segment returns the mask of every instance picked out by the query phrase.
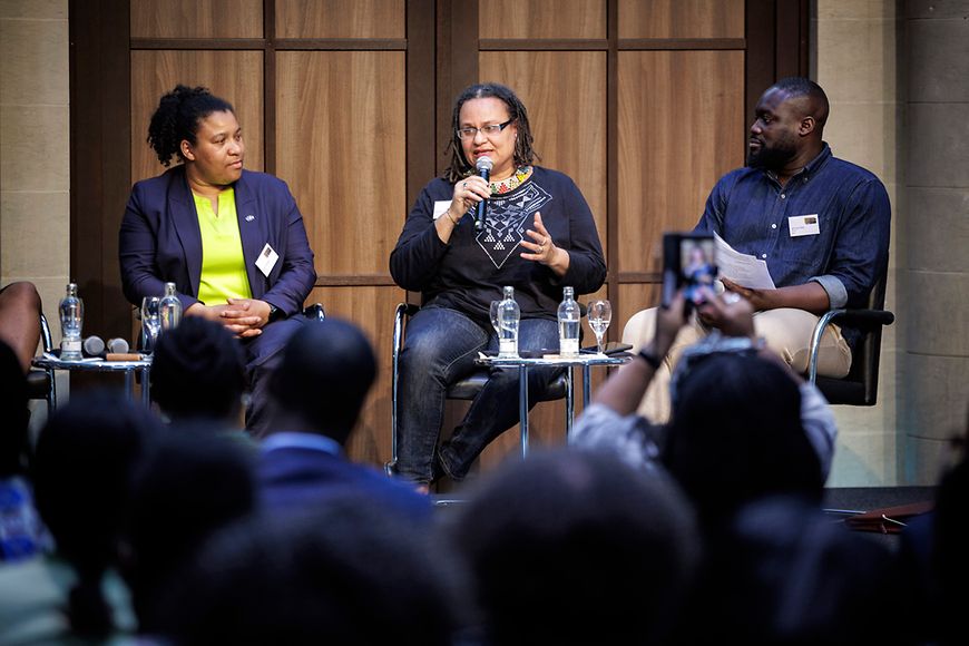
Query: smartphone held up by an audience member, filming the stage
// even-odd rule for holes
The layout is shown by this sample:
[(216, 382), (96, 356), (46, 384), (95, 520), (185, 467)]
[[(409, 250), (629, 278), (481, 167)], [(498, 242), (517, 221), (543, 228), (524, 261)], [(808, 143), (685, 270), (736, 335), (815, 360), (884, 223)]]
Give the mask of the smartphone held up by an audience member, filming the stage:
[(696, 233), (663, 234), (663, 306), (668, 307), (681, 288), (687, 310), (702, 305), (701, 287), (713, 290), (717, 276), (713, 236)]

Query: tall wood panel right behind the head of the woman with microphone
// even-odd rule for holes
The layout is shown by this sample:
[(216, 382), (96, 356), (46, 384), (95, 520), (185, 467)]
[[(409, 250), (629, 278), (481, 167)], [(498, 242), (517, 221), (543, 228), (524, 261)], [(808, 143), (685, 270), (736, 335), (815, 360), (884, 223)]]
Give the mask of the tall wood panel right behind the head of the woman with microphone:
[[(480, 78), (509, 86), (521, 98), (538, 163), (572, 178), (596, 218), (606, 249), (606, 53), (488, 51)], [(608, 260), (608, 258), (607, 258)]]

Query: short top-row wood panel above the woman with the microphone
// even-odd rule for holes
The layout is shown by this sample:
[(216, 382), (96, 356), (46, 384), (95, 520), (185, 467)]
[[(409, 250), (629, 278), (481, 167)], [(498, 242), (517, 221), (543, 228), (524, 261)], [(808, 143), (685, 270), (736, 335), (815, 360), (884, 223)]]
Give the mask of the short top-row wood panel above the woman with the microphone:
[(478, 38), (606, 38), (605, 0), (488, 0)]

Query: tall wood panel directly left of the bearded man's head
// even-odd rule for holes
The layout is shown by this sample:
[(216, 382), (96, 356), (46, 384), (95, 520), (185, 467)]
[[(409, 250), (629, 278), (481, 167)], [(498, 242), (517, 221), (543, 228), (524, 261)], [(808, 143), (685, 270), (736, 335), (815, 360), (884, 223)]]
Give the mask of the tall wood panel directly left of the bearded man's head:
[(619, 52), (619, 271), (659, 271), (663, 232), (693, 228), (743, 164), (743, 63), (741, 51)]

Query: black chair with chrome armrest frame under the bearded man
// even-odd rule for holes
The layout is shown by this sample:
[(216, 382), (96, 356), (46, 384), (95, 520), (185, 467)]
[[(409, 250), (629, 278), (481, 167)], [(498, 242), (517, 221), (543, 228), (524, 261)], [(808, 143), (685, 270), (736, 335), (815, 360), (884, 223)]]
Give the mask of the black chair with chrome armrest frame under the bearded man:
[[(818, 386), (829, 403), (857, 407), (871, 407), (877, 403), (881, 331), (884, 325), (891, 325), (895, 320), (894, 314), (884, 310), (884, 284), (882, 276), (872, 287), (868, 309), (831, 310), (821, 316), (814, 327), (809, 346), (807, 379)], [(851, 370), (842, 379), (818, 375), (821, 336), (832, 323), (861, 332), (851, 352)]]

